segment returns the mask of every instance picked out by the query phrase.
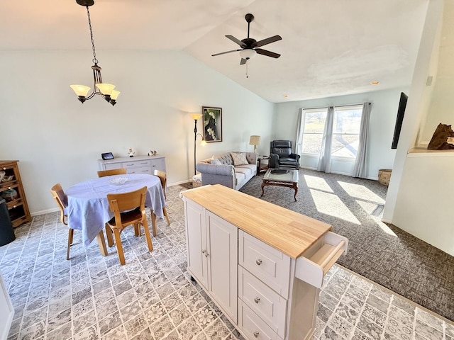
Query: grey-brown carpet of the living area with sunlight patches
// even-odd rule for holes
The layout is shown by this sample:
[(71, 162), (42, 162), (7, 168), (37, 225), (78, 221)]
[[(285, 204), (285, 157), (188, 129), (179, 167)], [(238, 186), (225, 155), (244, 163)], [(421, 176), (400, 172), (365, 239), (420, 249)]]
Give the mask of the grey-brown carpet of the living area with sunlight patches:
[[(262, 177), (240, 191), (260, 198)], [(261, 199), (332, 225), (349, 239), (341, 266), (454, 321), (454, 257), (381, 222), (386, 193), (378, 181), (300, 169), (297, 202), (278, 186)]]

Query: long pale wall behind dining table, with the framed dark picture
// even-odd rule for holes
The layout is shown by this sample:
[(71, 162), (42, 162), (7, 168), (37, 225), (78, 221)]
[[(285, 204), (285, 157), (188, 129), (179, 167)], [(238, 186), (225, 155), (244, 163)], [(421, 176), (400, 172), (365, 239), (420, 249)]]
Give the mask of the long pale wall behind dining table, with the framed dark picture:
[[(185, 52), (97, 51), (118, 103), (77, 101), (70, 84), (92, 84), (89, 51), (0, 54), (0, 159), (18, 159), (32, 213), (55, 208), (49, 189), (96, 176), (101, 152), (165, 155), (168, 183), (192, 178), (194, 120), (201, 106), (223, 108), (223, 142), (197, 147), (197, 159), (252, 151), (250, 135), (269, 138), (274, 104)], [(201, 132), (201, 120), (198, 122)], [(199, 141), (199, 139), (198, 139)], [(259, 147), (260, 151), (260, 147)]]

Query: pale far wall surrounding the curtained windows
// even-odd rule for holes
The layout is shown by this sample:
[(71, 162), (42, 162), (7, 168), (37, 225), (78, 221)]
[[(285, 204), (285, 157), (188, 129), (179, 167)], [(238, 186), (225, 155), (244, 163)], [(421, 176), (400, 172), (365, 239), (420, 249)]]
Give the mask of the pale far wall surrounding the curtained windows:
[[(379, 169), (392, 169), (395, 150), (391, 149), (392, 135), (396, 123), (400, 93), (408, 94), (409, 89), (392, 89), (372, 91), (365, 94), (320, 98), (310, 101), (294, 101), (276, 104), (273, 139), (295, 140), (299, 108), (322, 108), (326, 106), (343, 106), (360, 104), (366, 101), (373, 103), (370, 115), (369, 146), (367, 149), (367, 179), (377, 179)], [(301, 164), (313, 167), (315, 159), (301, 159)], [(333, 163), (332, 171), (348, 172), (352, 164), (344, 161)]]

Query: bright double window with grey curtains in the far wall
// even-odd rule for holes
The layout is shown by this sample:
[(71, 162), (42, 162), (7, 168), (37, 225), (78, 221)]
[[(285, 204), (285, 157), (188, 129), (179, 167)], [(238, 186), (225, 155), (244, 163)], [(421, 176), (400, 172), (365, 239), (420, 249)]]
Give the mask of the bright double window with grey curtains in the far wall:
[[(328, 108), (304, 110), (302, 154), (319, 156)], [(355, 159), (358, 152), (362, 105), (334, 108), (331, 156)]]

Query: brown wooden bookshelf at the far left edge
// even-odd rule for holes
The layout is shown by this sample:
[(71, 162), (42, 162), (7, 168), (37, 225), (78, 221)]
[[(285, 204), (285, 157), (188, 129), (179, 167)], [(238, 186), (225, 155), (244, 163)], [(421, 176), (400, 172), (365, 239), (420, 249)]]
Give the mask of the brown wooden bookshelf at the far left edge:
[(0, 161), (2, 180), (0, 181), (0, 198), (6, 200), (9, 217), (13, 227), (31, 221), (25, 191), (23, 191), (19, 161)]

